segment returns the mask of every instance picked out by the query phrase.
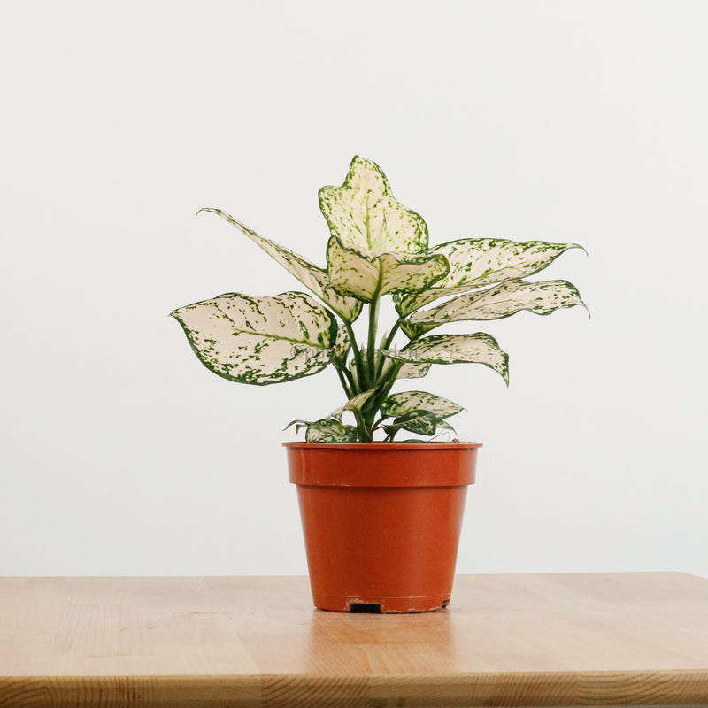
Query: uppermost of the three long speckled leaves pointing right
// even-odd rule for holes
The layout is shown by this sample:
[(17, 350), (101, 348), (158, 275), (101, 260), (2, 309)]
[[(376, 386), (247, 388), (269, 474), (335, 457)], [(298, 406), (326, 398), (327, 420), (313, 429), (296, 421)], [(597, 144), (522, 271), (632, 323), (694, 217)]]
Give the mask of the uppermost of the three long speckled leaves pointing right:
[(440, 297), (458, 295), (497, 282), (526, 278), (539, 273), (577, 243), (509, 241), (500, 238), (463, 238), (443, 243), (428, 253), (447, 258), (450, 270), (424, 293), (395, 296), (396, 309), (409, 314)]

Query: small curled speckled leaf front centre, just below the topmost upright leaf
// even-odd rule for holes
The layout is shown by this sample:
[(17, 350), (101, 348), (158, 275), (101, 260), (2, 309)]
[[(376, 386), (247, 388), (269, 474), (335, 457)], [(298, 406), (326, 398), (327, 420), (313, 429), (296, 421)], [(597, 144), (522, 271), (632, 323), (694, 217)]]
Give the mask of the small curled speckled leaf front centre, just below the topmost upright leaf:
[(443, 256), (362, 255), (332, 236), (327, 243), (327, 274), (342, 296), (371, 302), (375, 296), (428, 288), (447, 273)]

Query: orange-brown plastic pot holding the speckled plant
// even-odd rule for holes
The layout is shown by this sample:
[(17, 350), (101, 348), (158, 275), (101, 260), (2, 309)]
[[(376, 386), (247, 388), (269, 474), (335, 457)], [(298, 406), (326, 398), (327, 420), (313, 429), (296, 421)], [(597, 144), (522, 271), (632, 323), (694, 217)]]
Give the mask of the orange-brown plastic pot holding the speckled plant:
[(283, 443), (312, 599), (337, 612), (450, 604), (481, 443)]

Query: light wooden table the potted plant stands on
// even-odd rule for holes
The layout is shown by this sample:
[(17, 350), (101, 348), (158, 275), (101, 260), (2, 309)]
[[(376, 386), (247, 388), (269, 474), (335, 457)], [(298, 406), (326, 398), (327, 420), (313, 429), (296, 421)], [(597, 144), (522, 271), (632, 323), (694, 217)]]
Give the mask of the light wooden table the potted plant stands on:
[(0, 706), (708, 704), (708, 580), (470, 575), (447, 610), (304, 578), (0, 579)]

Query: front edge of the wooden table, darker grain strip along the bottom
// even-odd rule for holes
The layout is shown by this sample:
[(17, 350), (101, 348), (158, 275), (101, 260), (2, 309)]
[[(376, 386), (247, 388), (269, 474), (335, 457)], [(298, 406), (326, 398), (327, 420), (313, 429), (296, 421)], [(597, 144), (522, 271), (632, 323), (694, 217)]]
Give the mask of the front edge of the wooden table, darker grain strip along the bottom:
[[(418, 674), (0, 676), (0, 704), (82, 706), (327, 706), (381, 701), (446, 706), (708, 705), (708, 667), (697, 670)], [(373, 702), (373, 703), (372, 703)], [(386, 703), (388, 704), (388, 703)]]

